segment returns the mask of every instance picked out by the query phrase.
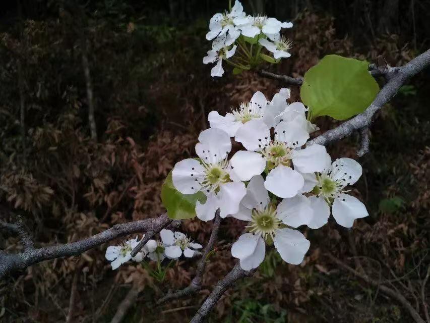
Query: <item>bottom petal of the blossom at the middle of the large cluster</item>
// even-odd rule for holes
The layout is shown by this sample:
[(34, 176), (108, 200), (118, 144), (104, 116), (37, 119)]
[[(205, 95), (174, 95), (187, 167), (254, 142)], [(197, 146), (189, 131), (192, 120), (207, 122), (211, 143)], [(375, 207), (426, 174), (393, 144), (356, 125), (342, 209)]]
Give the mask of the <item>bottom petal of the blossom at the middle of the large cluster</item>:
[(304, 179), (298, 172), (279, 165), (266, 177), (264, 186), (278, 197), (293, 197), (303, 187)]

